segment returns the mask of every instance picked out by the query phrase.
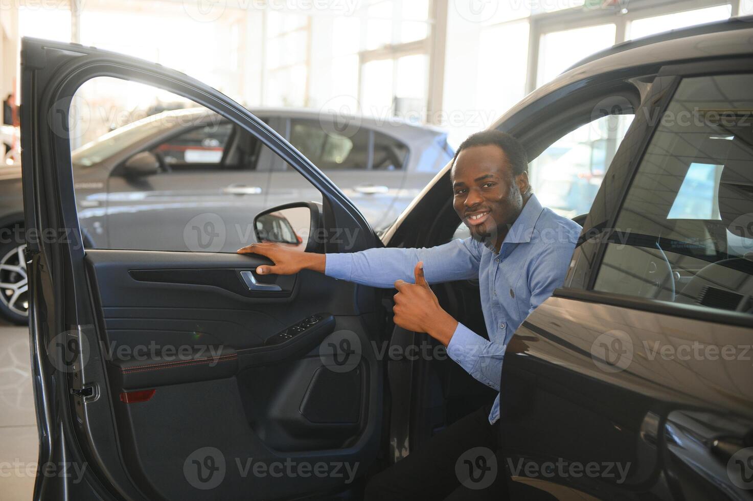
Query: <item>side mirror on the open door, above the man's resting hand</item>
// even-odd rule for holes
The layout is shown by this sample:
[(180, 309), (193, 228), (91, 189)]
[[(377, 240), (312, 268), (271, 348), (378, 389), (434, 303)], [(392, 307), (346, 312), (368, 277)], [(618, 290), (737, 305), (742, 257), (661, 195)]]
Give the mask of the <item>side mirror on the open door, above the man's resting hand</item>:
[(294, 202), (260, 212), (254, 218), (256, 241), (295, 247), (302, 251), (319, 250), (316, 235), (322, 228), (322, 204)]

